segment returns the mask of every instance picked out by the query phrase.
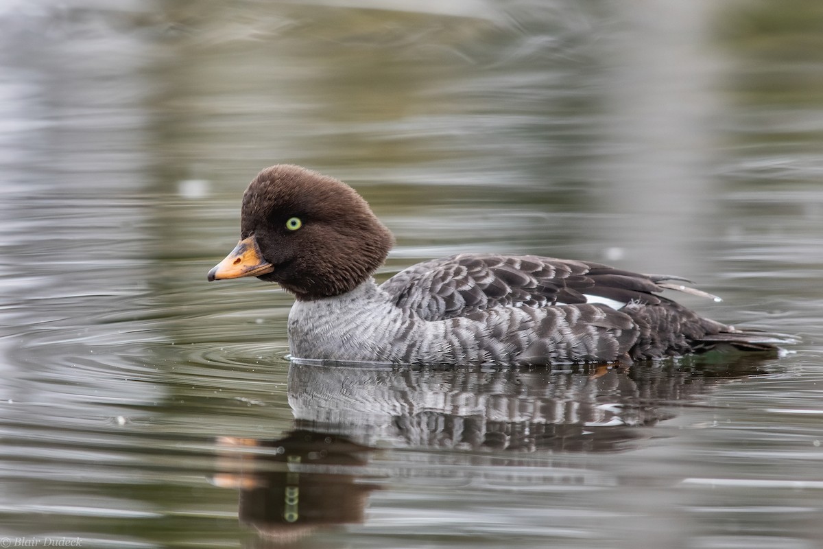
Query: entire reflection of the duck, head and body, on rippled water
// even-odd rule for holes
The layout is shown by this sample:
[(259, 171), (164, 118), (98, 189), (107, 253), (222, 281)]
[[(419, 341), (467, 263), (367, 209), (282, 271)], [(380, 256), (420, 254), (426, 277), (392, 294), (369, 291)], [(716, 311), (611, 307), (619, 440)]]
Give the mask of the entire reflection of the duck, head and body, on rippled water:
[[(478, 452), (511, 465), (540, 452), (621, 451), (650, 436), (644, 426), (671, 417), (682, 401), (762, 373), (745, 357), (562, 371), (293, 361), (295, 429), (278, 440), (221, 438), (215, 482), (239, 489), (241, 522), (282, 545), (362, 522), (375, 479), (402, 469), (403, 458), (391, 458), (402, 449), (451, 450), (440, 455), (452, 464), (463, 455), (467, 468)], [(385, 450), (377, 468), (370, 465), (375, 448)]]

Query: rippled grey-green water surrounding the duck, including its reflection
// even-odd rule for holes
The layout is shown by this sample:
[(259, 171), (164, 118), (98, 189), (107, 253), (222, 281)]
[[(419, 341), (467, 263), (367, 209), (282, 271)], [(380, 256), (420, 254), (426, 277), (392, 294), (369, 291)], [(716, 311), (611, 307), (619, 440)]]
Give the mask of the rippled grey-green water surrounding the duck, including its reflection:
[[(816, 2), (4, 2), (0, 546), (821, 547)], [(386, 9), (375, 9), (375, 8)], [(257, 171), (397, 236), (674, 272), (783, 358), (286, 360)]]

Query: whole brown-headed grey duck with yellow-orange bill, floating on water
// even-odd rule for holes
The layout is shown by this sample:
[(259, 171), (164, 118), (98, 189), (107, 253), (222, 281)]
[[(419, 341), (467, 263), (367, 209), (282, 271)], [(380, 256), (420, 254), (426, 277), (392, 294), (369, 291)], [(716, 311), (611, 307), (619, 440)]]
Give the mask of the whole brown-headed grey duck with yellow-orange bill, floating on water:
[(272, 165), (243, 194), (240, 240), (208, 280), (257, 277), (295, 297), (291, 357), (388, 364), (627, 363), (774, 351), (780, 334), (706, 319), (663, 291), (681, 277), (537, 255), (457, 254), (374, 272), (392, 233), (354, 188)]

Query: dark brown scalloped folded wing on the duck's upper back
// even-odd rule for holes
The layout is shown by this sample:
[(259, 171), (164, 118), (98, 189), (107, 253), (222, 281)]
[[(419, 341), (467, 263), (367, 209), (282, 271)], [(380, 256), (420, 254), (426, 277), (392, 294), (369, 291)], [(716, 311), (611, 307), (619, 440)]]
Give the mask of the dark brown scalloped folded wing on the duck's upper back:
[(500, 306), (582, 304), (592, 296), (657, 305), (663, 299), (654, 295), (663, 291), (657, 282), (669, 278), (535, 255), (459, 254), (417, 263), (381, 287), (399, 307), (441, 320)]

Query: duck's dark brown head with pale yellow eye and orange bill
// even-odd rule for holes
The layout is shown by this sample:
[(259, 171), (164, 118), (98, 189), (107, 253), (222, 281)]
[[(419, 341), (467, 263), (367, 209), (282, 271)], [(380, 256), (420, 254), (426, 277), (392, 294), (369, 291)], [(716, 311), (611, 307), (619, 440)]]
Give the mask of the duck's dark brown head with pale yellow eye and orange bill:
[(318, 299), (353, 290), (392, 244), (353, 188), (300, 166), (274, 165), (246, 189), (240, 241), (208, 279), (258, 277), (297, 299)]

